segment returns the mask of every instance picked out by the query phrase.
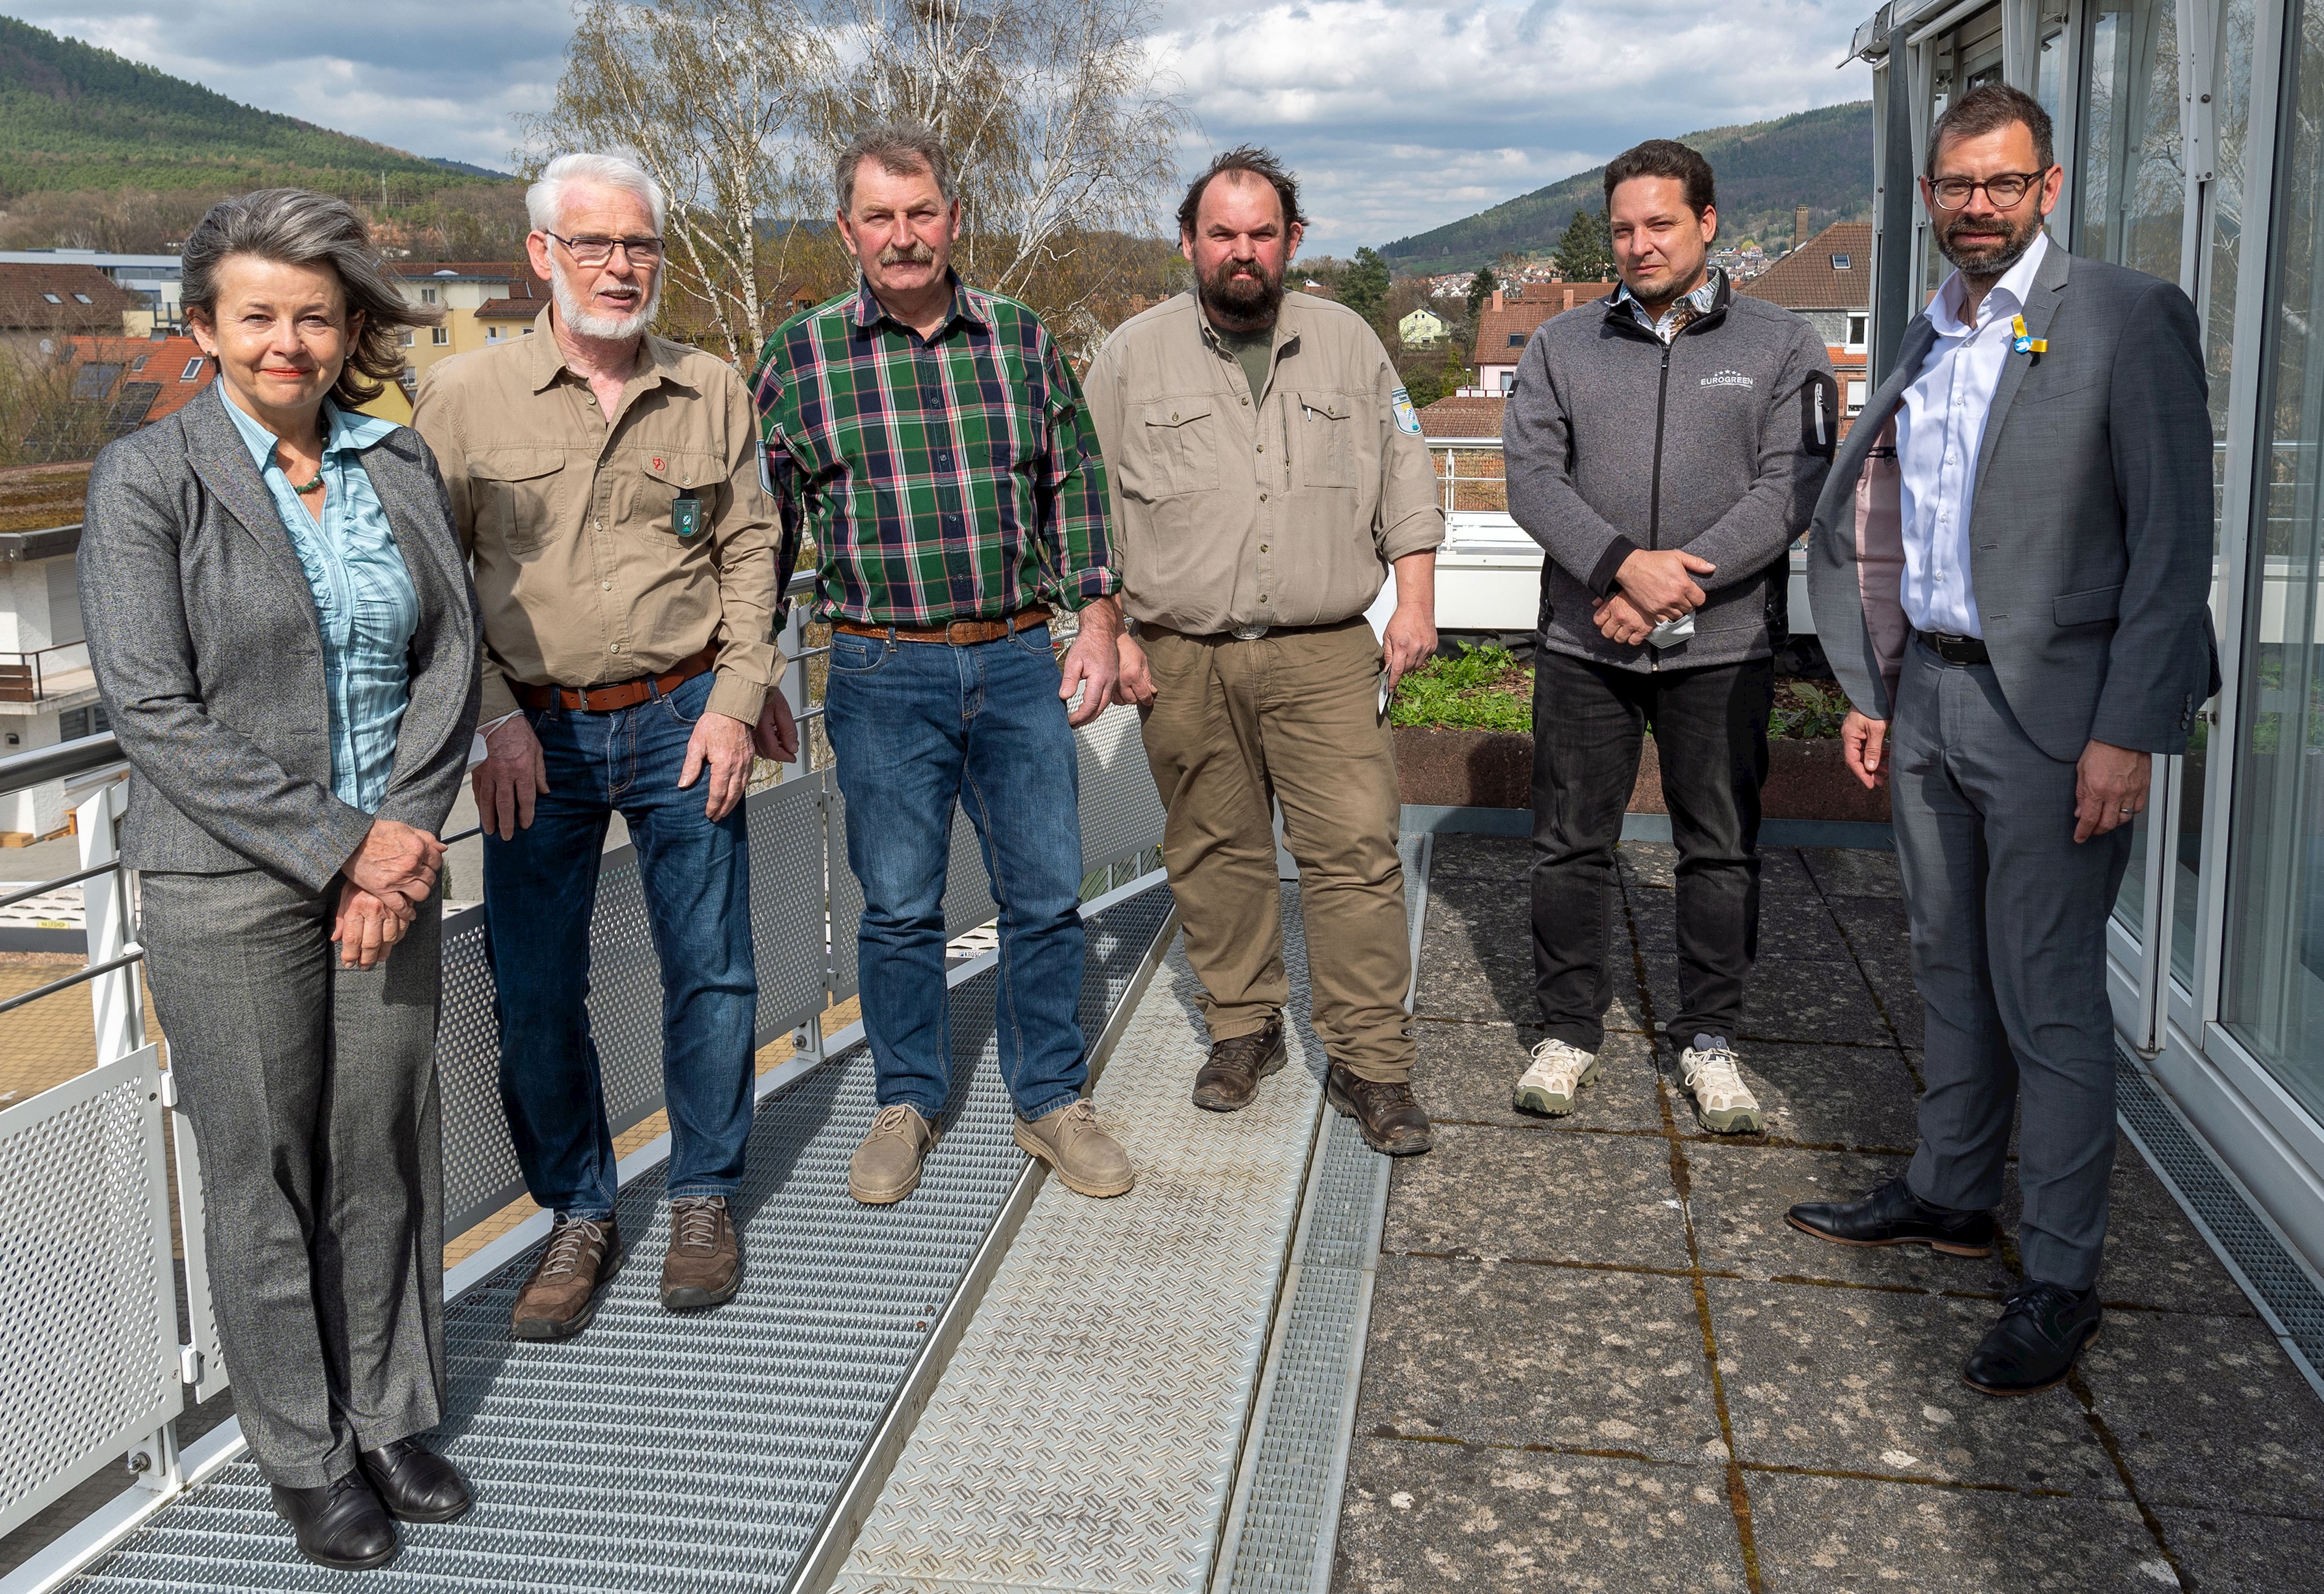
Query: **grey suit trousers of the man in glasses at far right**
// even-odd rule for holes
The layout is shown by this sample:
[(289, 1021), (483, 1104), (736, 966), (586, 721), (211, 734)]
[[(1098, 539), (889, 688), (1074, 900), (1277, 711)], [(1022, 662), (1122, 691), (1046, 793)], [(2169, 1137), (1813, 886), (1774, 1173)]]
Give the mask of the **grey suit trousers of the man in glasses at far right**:
[(1999, 1206), (2024, 1106), (2027, 1278), (2087, 1290), (2115, 1166), (2106, 920), (2131, 827), (2075, 846), (2075, 767), (2033, 746), (1985, 665), (1908, 644), (1892, 739), (1896, 867), (1929, 1011), (1913, 1194)]

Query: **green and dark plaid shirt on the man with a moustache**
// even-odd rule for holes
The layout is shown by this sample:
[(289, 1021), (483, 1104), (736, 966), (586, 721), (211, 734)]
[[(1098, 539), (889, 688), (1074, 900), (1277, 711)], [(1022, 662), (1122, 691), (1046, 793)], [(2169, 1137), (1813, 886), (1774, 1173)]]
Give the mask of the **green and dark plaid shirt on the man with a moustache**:
[(953, 277), (920, 337), (858, 281), (776, 328), (753, 388), (816, 616), (930, 627), (1120, 588), (1081, 383), (1025, 304)]

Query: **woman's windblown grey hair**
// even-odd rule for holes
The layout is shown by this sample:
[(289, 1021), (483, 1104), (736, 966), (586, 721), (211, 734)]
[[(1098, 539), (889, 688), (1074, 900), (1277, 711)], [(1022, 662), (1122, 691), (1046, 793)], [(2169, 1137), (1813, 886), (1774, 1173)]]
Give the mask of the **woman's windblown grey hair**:
[(379, 270), (372, 232), (346, 200), (309, 188), (260, 188), (218, 200), (186, 237), (181, 256), (184, 304), (218, 325), (218, 267), (230, 256), (256, 256), (279, 265), (328, 265), (346, 297), (346, 318), (360, 328), (346, 349), (346, 365), (330, 395), (344, 409), (370, 404), (386, 383), (404, 374), (397, 335), (435, 325), (444, 311), (411, 304)]

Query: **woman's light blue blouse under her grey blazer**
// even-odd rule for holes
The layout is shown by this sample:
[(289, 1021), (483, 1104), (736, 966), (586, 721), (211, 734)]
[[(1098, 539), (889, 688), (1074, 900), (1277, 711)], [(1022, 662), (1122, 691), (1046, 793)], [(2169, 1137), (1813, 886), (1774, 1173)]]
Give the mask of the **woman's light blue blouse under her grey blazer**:
[(330, 695), (330, 790), (365, 813), (379, 813), (395, 767), (395, 732), (411, 702), (411, 632), (418, 595), (388, 511), (372, 493), (360, 451), (395, 430), (393, 421), (349, 414), (323, 402), (330, 437), (323, 444), (323, 520), (316, 523), (274, 458), (274, 432), (232, 400), (251, 460), (274, 495), (290, 548), (314, 590), (323, 627), (323, 683)]

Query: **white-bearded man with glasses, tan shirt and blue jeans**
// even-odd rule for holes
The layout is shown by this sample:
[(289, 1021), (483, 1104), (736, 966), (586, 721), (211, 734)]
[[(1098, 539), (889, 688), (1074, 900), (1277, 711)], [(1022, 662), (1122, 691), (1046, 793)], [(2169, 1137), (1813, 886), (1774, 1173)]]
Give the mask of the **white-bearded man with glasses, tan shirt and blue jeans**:
[(660, 188), (560, 156), (525, 195), (532, 337), (428, 372), (435, 448), (483, 606), (483, 906), (500, 988), (500, 1097), (532, 1199), (555, 1213), (516, 1338), (588, 1327), (621, 1266), (614, 1132), (588, 1022), (590, 911), (611, 813), (637, 843), (662, 962), (669, 1250), (662, 1306), (732, 1299), (727, 1199), (751, 1132), (751, 878), (744, 781), (797, 730), (774, 648), (779, 523), (751, 395), (723, 360), (653, 337)]

